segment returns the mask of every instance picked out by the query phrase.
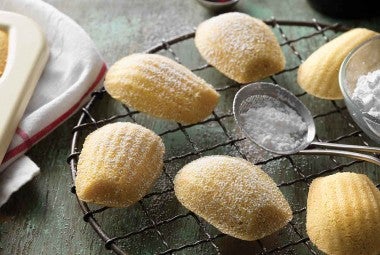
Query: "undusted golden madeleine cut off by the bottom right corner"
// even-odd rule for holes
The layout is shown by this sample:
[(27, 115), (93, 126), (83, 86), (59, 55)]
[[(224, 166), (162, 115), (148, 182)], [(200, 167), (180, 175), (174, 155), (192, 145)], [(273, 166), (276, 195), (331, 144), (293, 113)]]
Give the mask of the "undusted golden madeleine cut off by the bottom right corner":
[(366, 175), (315, 179), (306, 213), (310, 240), (327, 254), (380, 254), (380, 191)]

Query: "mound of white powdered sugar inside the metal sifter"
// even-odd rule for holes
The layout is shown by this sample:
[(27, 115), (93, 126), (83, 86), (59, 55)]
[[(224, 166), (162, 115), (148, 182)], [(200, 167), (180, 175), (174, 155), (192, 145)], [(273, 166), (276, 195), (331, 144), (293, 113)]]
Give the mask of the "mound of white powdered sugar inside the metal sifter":
[(307, 125), (295, 110), (286, 104), (269, 101), (250, 108), (242, 115), (245, 131), (254, 141), (274, 151), (289, 151), (303, 142)]

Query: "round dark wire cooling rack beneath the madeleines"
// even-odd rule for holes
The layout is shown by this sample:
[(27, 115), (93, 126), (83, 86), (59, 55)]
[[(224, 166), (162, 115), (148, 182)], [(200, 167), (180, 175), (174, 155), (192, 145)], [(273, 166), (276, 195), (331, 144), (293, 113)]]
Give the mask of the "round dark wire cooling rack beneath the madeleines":
[[(370, 140), (353, 123), (341, 101), (311, 97), (296, 84), (296, 71), (302, 61), (329, 38), (347, 28), (340, 24), (325, 25), (315, 20), (299, 22), (273, 18), (266, 23), (273, 28), (287, 59), (286, 69), (269, 77), (268, 81), (291, 90), (309, 107), (320, 131), (317, 132), (319, 141), (369, 145)], [(184, 65), (198, 61), (197, 67), (188, 67), (215, 85), (222, 96), (222, 106), (200, 123), (181, 125), (152, 119), (121, 105), (111, 99), (104, 89), (94, 92), (73, 128), (71, 154), (68, 157), (73, 180), (85, 136), (110, 122), (131, 121), (153, 129), (163, 138), (167, 154), (163, 174), (156, 186), (136, 205), (115, 209), (78, 200), (84, 213), (83, 219), (104, 241), (105, 248), (116, 254), (320, 254), (309, 241), (305, 230), (305, 206), (310, 182), (316, 177), (337, 171), (353, 171), (366, 173), (379, 187), (376, 169), (359, 160), (326, 156), (278, 156), (255, 147), (236, 128), (231, 112), (233, 96), (240, 85), (225, 77), (221, 78), (222, 75), (214, 68), (200, 62), (202, 60), (196, 55), (193, 37), (194, 32), (162, 41), (147, 52), (169, 56)], [(188, 61), (184, 56), (191, 56), (196, 61)], [(222, 84), (215, 84), (213, 79), (222, 81)], [(329, 124), (334, 128), (329, 130)], [(269, 237), (246, 242), (220, 233), (183, 208), (173, 192), (175, 173), (184, 164), (211, 154), (234, 155), (262, 166), (278, 183), (291, 204), (293, 220)], [(75, 193), (75, 187), (72, 192)]]

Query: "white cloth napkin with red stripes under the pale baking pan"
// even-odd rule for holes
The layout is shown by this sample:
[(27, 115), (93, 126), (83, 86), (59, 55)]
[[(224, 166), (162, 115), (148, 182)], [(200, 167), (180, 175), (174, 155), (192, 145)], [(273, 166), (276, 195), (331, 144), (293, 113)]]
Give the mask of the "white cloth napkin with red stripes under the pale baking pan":
[(86, 32), (51, 5), (40, 0), (4, 0), (0, 9), (36, 21), (45, 32), (50, 50), (48, 63), (0, 166), (1, 206), (39, 173), (38, 166), (24, 153), (80, 109), (101, 85), (107, 67)]

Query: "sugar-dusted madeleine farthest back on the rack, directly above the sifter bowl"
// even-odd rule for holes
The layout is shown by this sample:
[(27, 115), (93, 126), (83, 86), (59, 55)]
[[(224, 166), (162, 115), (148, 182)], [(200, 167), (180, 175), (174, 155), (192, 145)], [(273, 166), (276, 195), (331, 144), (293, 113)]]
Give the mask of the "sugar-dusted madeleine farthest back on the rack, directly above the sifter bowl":
[(285, 57), (272, 30), (247, 14), (221, 14), (201, 23), (195, 45), (221, 73), (239, 82), (260, 80), (285, 68)]

